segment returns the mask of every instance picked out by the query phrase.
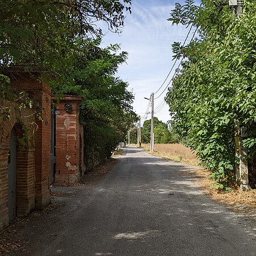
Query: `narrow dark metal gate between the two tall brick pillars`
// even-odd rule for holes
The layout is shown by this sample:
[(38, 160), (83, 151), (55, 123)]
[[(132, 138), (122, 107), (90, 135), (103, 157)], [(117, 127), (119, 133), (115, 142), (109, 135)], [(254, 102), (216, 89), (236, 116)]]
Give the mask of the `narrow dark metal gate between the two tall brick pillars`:
[(55, 179), (55, 166), (56, 166), (56, 115), (55, 109), (52, 109), (51, 115), (51, 173), (50, 173), (50, 184), (54, 182)]

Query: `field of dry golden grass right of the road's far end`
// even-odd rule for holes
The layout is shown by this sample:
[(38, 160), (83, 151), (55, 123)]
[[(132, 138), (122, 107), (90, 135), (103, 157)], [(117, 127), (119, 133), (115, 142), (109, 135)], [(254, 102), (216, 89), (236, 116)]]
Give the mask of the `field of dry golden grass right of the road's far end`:
[[(142, 148), (150, 151), (150, 144), (142, 144)], [(154, 155), (190, 166), (198, 166), (200, 163), (196, 154), (182, 144), (155, 144)]]

